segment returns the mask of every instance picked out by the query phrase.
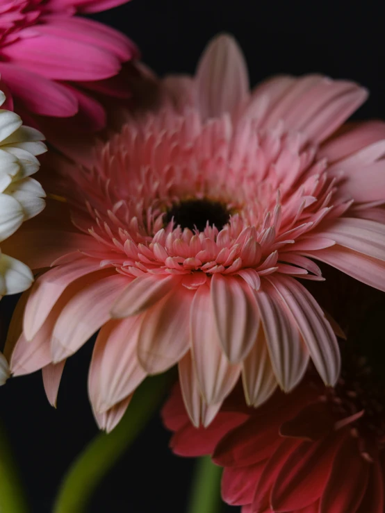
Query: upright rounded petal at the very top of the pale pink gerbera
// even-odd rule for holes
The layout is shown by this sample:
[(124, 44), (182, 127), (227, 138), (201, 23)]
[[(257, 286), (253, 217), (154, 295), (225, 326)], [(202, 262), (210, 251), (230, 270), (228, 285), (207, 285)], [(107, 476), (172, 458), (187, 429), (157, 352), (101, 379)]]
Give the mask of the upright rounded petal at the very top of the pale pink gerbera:
[(199, 110), (204, 119), (232, 113), (247, 99), (247, 66), (233, 37), (220, 35), (208, 44), (197, 68), (196, 81)]

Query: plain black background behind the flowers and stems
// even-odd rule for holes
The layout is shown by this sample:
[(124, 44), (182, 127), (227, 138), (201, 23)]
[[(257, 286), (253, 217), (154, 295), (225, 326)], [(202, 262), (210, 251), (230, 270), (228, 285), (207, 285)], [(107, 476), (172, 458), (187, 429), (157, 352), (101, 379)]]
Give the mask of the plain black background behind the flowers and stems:
[[(158, 74), (192, 73), (208, 39), (220, 31), (233, 33), (245, 52), (252, 84), (282, 72), (349, 78), (371, 92), (356, 115), (363, 119), (385, 118), (385, 8), (381, 5), (133, 0), (94, 18), (129, 35)], [(7, 303), (8, 309), (12, 299)], [(44, 396), (40, 373), (9, 380), (0, 389), (1, 418), (33, 513), (51, 512), (60, 478), (97, 434), (86, 392), (91, 351), (92, 342), (69, 359), (57, 410)], [(168, 439), (156, 416), (101, 482), (90, 513), (183, 513), (193, 462), (172, 456)]]

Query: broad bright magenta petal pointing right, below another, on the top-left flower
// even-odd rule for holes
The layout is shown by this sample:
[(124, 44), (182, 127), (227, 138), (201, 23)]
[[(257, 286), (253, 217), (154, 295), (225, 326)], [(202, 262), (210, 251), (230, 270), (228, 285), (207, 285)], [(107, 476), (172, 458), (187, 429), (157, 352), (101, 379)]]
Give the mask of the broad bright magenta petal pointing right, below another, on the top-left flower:
[(69, 37), (38, 35), (21, 38), (2, 49), (11, 64), (45, 78), (63, 81), (95, 81), (114, 76), (119, 60), (106, 50)]

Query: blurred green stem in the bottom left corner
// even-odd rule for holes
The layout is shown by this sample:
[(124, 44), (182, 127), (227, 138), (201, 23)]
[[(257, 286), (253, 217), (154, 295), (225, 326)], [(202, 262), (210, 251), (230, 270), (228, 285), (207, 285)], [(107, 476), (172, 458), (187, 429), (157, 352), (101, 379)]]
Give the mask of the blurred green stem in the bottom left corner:
[(0, 512), (26, 513), (28, 507), (6, 432), (0, 426)]

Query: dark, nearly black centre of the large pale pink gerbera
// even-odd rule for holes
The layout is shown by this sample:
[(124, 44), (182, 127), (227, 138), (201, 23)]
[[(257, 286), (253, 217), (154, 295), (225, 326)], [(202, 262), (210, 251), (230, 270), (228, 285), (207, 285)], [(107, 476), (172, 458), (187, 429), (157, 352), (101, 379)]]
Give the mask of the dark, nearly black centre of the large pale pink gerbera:
[(188, 199), (172, 205), (172, 208), (165, 215), (165, 224), (167, 225), (174, 219), (174, 224), (181, 228), (197, 228), (202, 232), (209, 226), (215, 225), (218, 230), (222, 230), (225, 224), (229, 222), (230, 212), (224, 203), (219, 201), (210, 201), (208, 199)]

